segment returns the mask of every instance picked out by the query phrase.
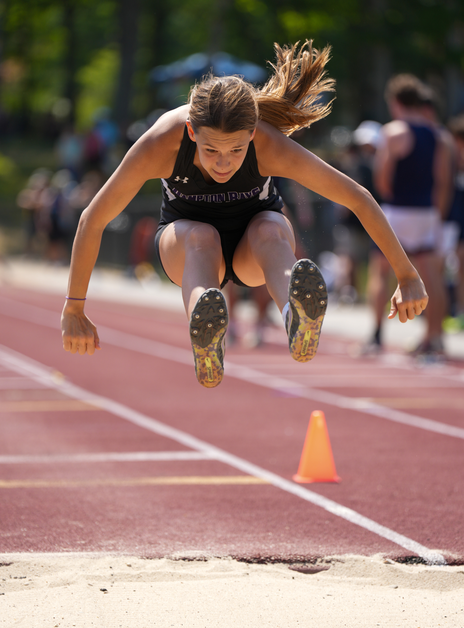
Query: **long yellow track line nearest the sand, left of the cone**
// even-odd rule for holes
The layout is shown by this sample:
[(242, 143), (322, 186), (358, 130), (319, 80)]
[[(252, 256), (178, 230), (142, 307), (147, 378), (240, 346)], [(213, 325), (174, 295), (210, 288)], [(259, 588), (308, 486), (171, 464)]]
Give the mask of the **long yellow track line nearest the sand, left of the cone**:
[(0, 480), (0, 489), (67, 489), (85, 486), (154, 486), (173, 484), (269, 484), (254, 475), (161, 475), (97, 480)]

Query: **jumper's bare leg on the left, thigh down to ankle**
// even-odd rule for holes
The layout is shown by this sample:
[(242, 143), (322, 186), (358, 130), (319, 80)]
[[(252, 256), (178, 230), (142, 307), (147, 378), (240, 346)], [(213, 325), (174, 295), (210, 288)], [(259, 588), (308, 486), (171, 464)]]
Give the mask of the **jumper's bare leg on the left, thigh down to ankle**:
[(225, 275), (220, 236), (212, 225), (195, 220), (175, 220), (159, 239), (159, 256), (166, 274), (182, 287), (185, 311), (208, 288), (219, 288)]

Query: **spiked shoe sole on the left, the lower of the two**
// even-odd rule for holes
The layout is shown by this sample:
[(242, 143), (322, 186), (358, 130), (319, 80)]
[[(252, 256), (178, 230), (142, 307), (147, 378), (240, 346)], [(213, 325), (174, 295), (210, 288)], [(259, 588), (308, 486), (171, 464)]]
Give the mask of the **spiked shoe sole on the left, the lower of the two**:
[(229, 323), (224, 295), (208, 288), (195, 303), (190, 316), (190, 340), (195, 373), (205, 388), (214, 388), (224, 376), (224, 336)]

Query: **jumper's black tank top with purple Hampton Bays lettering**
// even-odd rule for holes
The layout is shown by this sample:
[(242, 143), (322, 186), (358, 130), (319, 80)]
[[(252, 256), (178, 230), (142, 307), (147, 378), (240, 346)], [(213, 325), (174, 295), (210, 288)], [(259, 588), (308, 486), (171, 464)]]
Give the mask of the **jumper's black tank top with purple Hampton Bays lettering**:
[(283, 208), (272, 177), (259, 174), (252, 141), (244, 162), (226, 183), (206, 183), (193, 165), (196, 149), (197, 143), (189, 138), (185, 125), (174, 171), (170, 178), (161, 179), (160, 225), (186, 218), (208, 222), (219, 231), (232, 231), (240, 229), (258, 212)]

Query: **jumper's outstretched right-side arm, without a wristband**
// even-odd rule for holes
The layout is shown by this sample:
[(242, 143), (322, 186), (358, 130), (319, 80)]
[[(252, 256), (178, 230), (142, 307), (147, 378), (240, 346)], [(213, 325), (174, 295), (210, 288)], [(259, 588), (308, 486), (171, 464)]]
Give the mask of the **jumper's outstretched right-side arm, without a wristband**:
[(315, 154), (284, 136), (270, 124), (260, 122), (254, 138), (259, 172), (293, 179), (321, 196), (352, 210), (391, 264), (398, 287), (392, 296), (389, 318), (399, 313), (406, 323), (426, 307), (428, 296), (413, 264), (399, 244), (384, 212), (372, 195)]

